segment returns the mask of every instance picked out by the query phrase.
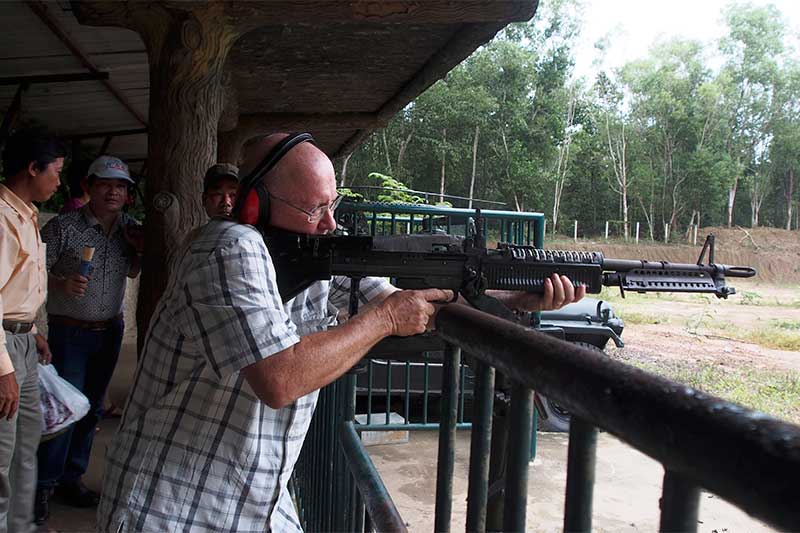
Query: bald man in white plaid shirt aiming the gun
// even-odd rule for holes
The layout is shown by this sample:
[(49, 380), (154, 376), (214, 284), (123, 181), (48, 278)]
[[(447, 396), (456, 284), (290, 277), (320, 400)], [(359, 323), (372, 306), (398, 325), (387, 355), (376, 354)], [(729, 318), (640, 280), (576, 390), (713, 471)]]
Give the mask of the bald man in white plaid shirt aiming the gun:
[[(248, 176), (286, 134), (248, 149)], [(301, 142), (264, 176), (269, 223), (312, 235), (336, 228), (333, 166)], [(582, 297), (554, 278), (543, 299)], [(422, 333), (449, 291), (399, 291), (368, 278), (369, 305), (336, 328), (349, 280), (320, 281), (285, 304), (261, 234), (213, 219), (181, 252), (152, 319), (119, 432), (108, 452), (101, 531), (300, 531), (288, 481), (318, 390), (389, 335)]]

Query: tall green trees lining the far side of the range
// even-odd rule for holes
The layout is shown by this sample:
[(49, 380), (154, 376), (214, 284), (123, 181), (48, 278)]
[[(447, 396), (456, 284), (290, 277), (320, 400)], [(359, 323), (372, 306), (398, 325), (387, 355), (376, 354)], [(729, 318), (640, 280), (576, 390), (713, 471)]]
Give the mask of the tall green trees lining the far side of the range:
[(373, 134), (348, 186), (378, 173), (589, 232), (607, 220), (653, 238), (697, 223), (796, 228), (800, 63), (780, 12), (730, 4), (718, 42), (658, 41), (587, 81), (573, 72), (581, 11), (543, 3), (506, 28)]

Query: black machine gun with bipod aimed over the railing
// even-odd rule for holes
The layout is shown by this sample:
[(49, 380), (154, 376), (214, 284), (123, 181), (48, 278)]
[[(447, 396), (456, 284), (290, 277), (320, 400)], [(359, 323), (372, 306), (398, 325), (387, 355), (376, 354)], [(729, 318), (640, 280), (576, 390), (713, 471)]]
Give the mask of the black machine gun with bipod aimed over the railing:
[[(480, 224), (478, 224), (480, 227)], [(601, 252), (543, 250), (500, 243), (487, 249), (479, 232), (450, 235), (310, 236), (270, 230), (265, 242), (284, 301), (317, 280), (347, 276), (388, 277), (402, 289), (451, 289), (476, 308), (504, 318), (514, 314), (487, 289), (543, 293), (554, 273), (568, 276), (588, 293), (603, 286), (635, 292), (711, 293), (727, 298), (736, 291), (725, 277), (749, 278), (747, 266), (714, 263), (714, 235), (709, 235), (696, 264), (608, 259)], [(705, 256), (708, 254), (708, 262)], [(357, 283), (355, 284), (357, 285)]]

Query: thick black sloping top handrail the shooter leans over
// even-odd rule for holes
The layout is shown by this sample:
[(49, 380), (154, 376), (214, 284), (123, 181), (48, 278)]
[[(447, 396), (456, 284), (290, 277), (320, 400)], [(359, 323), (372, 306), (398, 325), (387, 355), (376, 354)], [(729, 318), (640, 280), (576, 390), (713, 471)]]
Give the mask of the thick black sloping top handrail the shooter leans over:
[(800, 530), (799, 427), (467, 306), (443, 308), (436, 329), (660, 461), (685, 486), (709, 490), (777, 528)]

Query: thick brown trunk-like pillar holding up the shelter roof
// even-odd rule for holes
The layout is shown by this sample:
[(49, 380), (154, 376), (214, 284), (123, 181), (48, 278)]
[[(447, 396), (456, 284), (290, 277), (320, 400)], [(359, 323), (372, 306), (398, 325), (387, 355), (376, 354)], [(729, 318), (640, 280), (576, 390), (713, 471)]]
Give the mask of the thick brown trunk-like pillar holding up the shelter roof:
[(162, 24), (142, 32), (150, 61), (145, 255), (136, 319), (141, 348), (170, 278), (172, 259), (203, 222), (202, 177), (217, 155), (224, 104), (223, 65), (237, 35), (213, 5), (159, 11)]

